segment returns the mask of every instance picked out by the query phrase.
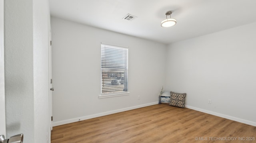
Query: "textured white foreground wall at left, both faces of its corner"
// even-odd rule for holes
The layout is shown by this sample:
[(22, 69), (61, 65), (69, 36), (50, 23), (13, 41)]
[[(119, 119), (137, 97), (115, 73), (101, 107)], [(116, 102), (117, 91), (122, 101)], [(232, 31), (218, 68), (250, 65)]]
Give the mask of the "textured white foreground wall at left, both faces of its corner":
[(6, 134), (50, 142), (48, 0), (4, 2)]

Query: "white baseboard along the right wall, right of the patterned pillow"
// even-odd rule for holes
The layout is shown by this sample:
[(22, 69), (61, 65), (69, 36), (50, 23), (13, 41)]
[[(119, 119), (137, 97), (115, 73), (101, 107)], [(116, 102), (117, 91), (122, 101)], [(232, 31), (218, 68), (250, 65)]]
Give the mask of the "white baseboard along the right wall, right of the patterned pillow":
[(204, 112), (204, 113), (211, 114), (211, 115), (214, 115), (214, 116), (230, 119), (230, 120), (233, 120), (233, 121), (238, 121), (240, 123), (245, 123), (245, 124), (248, 124), (248, 125), (256, 126), (256, 122), (253, 122), (253, 121), (248, 121), (248, 120), (245, 120), (245, 119), (240, 119), (240, 118), (236, 118), (236, 117), (228, 116), (228, 115), (225, 115), (225, 114), (220, 114), (220, 113), (217, 113), (217, 112), (212, 112), (212, 111), (209, 111), (209, 110), (204, 110), (204, 109), (201, 109), (201, 108), (196, 108), (196, 107), (188, 106), (188, 105), (185, 105), (185, 108), (189, 108), (189, 109), (192, 109), (192, 110)]

